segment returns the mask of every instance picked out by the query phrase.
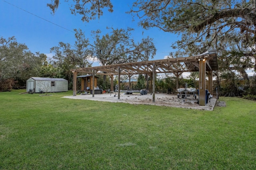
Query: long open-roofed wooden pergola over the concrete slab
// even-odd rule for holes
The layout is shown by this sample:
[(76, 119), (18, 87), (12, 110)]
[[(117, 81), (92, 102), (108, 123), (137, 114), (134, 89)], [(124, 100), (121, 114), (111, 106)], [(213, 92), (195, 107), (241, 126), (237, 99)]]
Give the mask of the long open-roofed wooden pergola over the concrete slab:
[[(73, 72), (73, 96), (76, 96), (77, 73), (93, 75), (109, 75), (111, 78), (111, 91), (113, 91), (114, 75), (118, 75), (118, 99), (120, 99), (120, 75), (128, 75), (129, 79), (135, 74), (148, 74), (151, 78), (150, 91), (152, 101), (155, 102), (155, 77), (159, 73), (173, 73), (177, 77), (176, 86), (178, 89), (178, 77), (184, 72), (199, 71), (199, 105), (206, 105), (206, 73), (208, 73), (208, 91), (212, 94), (212, 71), (218, 70), (216, 50), (208, 50), (200, 55), (191, 57), (178, 57), (159, 59), (152, 61), (140, 61), (135, 63), (123, 63), (104, 65), (96, 67), (85, 67), (71, 69)], [(95, 87), (94, 81), (92, 87)], [(94, 89), (92, 93), (94, 97)]]

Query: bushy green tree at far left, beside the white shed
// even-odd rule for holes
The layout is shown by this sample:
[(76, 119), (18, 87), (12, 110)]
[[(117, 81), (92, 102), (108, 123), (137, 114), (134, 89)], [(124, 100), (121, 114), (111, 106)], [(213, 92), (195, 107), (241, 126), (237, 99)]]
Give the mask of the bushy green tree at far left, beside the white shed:
[(0, 37), (0, 91), (12, 89), (15, 81), (26, 86), (29, 77), (39, 75), (41, 65), (42, 56), (39, 53), (35, 55), (14, 37)]

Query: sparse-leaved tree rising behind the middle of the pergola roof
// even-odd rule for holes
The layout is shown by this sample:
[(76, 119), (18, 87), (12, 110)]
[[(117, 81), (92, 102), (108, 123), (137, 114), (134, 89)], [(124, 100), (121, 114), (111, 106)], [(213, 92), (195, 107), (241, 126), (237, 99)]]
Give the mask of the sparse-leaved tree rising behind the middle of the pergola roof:
[(146, 61), (156, 54), (152, 38), (142, 38), (140, 42), (135, 42), (131, 37), (132, 28), (111, 29), (110, 34), (103, 36), (100, 36), (100, 30), (93, 32), (94, 56), (101, 65)]

